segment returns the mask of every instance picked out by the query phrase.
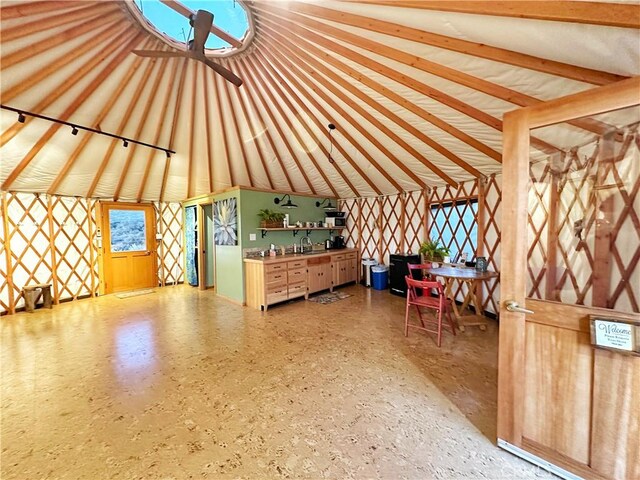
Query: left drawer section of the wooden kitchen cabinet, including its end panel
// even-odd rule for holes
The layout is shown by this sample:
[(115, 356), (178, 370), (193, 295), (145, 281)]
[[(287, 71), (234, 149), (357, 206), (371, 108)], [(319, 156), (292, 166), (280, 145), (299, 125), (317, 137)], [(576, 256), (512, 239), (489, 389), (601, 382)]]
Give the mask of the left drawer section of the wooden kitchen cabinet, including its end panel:
[(247, 305), (259, 310), (302, 297), (307, 293), (307, 261), (245, 263), (245, 290)]

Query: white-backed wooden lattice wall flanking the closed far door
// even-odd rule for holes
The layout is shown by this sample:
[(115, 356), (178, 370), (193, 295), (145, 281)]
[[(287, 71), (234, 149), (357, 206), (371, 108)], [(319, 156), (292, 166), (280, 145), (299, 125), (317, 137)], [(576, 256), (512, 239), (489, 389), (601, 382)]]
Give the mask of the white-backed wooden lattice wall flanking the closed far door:
[[(24, 306), (22, 287), (51, 283), (54, 302), (98, 294), (95, 200), (2, 193), (0, 312)], [(182, 281), (182, 208), (155, 204), (160, 285)]]

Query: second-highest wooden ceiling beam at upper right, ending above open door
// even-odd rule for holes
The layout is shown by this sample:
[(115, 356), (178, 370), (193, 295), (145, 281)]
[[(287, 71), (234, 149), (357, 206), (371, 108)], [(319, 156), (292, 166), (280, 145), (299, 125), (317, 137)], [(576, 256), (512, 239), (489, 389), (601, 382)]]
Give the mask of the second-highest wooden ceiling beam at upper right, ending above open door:
[(452, 52), (484, 58), (508, 65), (514, 65), (516, 67), (527, 68), (538, 72), (548, 73), (550, 75), (591, 83), (593, 85), (606, 85), (626, 78), (622, 75), (578, 67), (576, 65), (556, 62), (546, 58), (534, 57), (532, 55), (526, 55), (513, 50), (506, 50), (455, 37), (439, 35), (437, 33), (406, 27), (404, 25), (391, 23), (385, 20), (369, 18), (354, 13), (340, 12), (327, 7), (320, 7), (318, 5), (289, 2), (287, 8), (300, 13), (312, 15), (316, 18), (323, 18), (331, 22), (358, 27), (372, 32), (421, 43), (423, 45), (430, 45), (432, 47), (442, 48), (444, 50), (450, 50)]

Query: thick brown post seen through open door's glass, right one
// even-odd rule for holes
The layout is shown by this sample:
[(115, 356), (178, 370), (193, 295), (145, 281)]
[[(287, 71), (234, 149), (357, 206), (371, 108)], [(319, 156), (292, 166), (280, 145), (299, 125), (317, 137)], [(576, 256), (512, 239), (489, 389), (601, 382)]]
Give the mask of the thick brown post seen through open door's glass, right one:
[[(595, 240), (593, 249), (593, 294), (594, 307), (613, 308), (610, 303), (611, 289), (611, 235), (613, 233), (613, 196), (606, 195), (600, 187), (606, 184), (609, 164), (615, 158), (615, 134), (610, 132), (600, 139), (596, 178), (593, 185)], [(606, 198), (605, 198), (606, 196)], [(586, 221), (586, 219), (585, 219)]]

